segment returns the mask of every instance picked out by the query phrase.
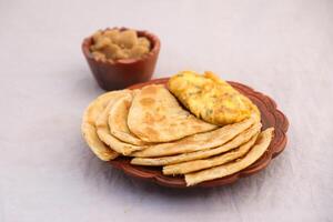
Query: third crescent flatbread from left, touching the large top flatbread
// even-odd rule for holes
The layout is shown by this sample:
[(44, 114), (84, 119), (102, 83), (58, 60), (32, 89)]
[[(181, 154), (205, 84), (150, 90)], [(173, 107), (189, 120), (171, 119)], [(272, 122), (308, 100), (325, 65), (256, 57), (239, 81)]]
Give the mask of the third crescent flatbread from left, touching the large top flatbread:
[(132, 104), (133, 94), (128, 93), (114, 102), (109, 113), (109, 128), (112, 135), (119, 140), (134, 145), (147, 144), (133, 133), (128, 127), (129, 110)]

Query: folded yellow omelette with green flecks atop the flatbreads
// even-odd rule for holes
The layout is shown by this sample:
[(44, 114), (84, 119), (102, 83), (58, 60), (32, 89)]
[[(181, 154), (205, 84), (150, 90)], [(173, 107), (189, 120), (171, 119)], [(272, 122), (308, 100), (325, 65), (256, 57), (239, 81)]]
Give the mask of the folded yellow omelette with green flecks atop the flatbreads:
[(256, 110), (250, 100), (212, 72), (201, 75), (183, 71), (172, 77), (168, 87), (195, 117), (213, 124), (240, 122)]

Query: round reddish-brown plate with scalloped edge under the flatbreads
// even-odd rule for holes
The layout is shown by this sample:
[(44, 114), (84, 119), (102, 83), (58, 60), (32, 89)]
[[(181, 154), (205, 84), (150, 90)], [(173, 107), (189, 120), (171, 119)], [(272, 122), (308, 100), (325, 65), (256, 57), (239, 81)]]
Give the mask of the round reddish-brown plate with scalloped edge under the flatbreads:
[[(129, 87), (129, 89), (141, 89), (142, 87), (148, 84), (167, 84), (168, 80), (169, 78), (154, 79), (149, 82), (134, 84), (132, 87)], [(246, 87), (238, 82), (229, 82), (229, 83), (232, 87), (234, 87), (236, 90), (239, 90), (241, 93), (250, 98), (258, 105), (261, 112), (261, 122), (263, 124), (263, 130), (270, 127), (275, 128), (274, 138), (266, 152), (252, 165), (232, 175), (215, 179), (212, 181), (205, 181), (193, 186), (218, 186), (218, 185), (233, 183), (240, 178), (248, 176), (263, 170), (265, 167), (268, 167), (271, 160), (275, 158), (278, 154), (280, 154), (285, 148), (286, 144), (285, 133), (289, 127), (289, 121), (286, 117), (280, 110), (276, 109), (276, 103), (268, 95), (254, 91), (250, 87)], [(132, 165), (130, 164), (130, 160), (131, 158), (120, 157), (117, 158), (115, 160), (110, 161), (110, 163), (113, 167), (121, 169), (127, 174), (135, 178), (152, 181), (164, 186), (188, 188), (183, 176), (163, 175), (162, 168)]]

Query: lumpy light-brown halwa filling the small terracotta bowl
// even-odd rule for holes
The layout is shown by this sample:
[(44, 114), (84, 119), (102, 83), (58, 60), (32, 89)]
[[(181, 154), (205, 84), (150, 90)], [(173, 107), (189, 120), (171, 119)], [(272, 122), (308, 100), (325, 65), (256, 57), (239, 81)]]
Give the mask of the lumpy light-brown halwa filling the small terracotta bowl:
[(95, 59), (120, 60), (137, 59), (150, 51), (150, 41), (145, 37), (138, 37), (134, 30), (110, 29), (97, 31), (90, 47)]

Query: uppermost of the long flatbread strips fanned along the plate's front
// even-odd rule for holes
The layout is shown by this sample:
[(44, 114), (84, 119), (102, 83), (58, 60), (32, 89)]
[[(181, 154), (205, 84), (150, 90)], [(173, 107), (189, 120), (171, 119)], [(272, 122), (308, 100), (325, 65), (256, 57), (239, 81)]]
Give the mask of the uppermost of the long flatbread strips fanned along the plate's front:
[(256, 118), (251, 117), (242, 122), (229, 124), (214, 131), (190, 135), (175, 142), (150, 145), (142, 151), (133, 152), (131, 155), (137, 158), (153, 158), (216, 148), (249, 129), (252, 124), (256, 123)]

